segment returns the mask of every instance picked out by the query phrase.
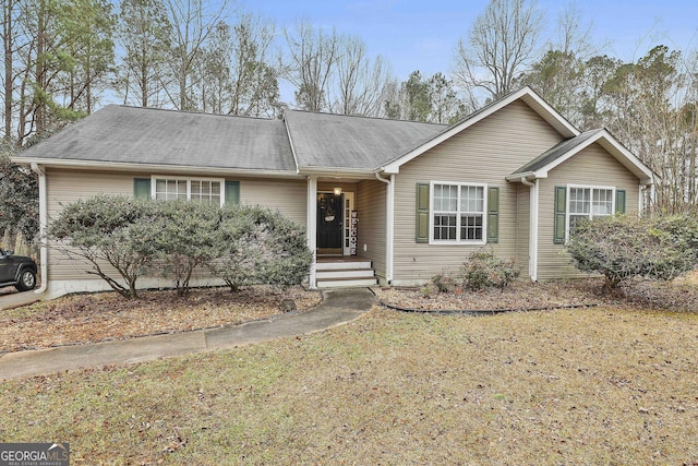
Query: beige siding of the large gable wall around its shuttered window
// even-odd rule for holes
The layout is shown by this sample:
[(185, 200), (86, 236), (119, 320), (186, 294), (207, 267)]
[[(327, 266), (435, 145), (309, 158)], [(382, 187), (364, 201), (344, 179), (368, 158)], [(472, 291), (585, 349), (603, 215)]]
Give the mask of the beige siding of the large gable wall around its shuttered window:
[(517, 211), (519, 187), (505, 177), (561, 140), (559, 133), (530, 107), (515, 101), (400, 167), (395, 187), (394, 279), (421, 282), (457, 270), (470, 253), (482, 248), (416, 243), (416, 186), (420, 182), (498, 187), (500, 240), (488, 248), (508, 259), (528, 254), (528, 223), (517, 226), (521, 215)]

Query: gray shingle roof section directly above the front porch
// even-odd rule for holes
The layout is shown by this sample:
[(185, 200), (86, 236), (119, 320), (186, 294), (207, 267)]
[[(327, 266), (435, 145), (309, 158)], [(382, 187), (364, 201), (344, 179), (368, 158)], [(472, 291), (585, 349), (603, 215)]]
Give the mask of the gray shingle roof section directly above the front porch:
[(441, 133), (444, 124), (287, 110), (299, 168), (373, 170)]

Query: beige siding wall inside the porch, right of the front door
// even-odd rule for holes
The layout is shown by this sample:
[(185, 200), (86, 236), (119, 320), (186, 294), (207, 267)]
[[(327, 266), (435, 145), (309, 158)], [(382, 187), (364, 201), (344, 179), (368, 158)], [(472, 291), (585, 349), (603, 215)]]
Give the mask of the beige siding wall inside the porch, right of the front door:
[[(361, 181), (357, 190), (358, 255), (370, 259), (376, 275), (385, 278), (386, 199), (387, 184), (381, 181)], [(366, 250), (363, 250), (365, 244)]]

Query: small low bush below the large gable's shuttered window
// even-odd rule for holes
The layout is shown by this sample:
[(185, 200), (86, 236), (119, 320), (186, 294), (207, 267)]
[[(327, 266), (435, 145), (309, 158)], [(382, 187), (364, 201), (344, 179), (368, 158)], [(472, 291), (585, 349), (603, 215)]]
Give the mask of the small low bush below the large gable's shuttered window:
[(461, 270), (464, 286), (471, 290), (505, 288), (519, 276), (514, 261), (498, 258), (491, 251), (473, 252)]

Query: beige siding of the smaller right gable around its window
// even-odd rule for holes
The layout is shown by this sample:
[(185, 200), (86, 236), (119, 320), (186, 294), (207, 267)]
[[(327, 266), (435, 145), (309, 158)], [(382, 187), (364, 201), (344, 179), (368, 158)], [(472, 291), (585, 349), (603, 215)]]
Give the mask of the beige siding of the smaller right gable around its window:
[(550, 171), (540, 181), (538, 279), (586, 276), (575, 268), (562, 244), (553, 243), (555, 187), (567, 184), (615, 187), (626, 191), (626, 212), (637, 212), (639, 180), (599, 144), (592, 144)]

